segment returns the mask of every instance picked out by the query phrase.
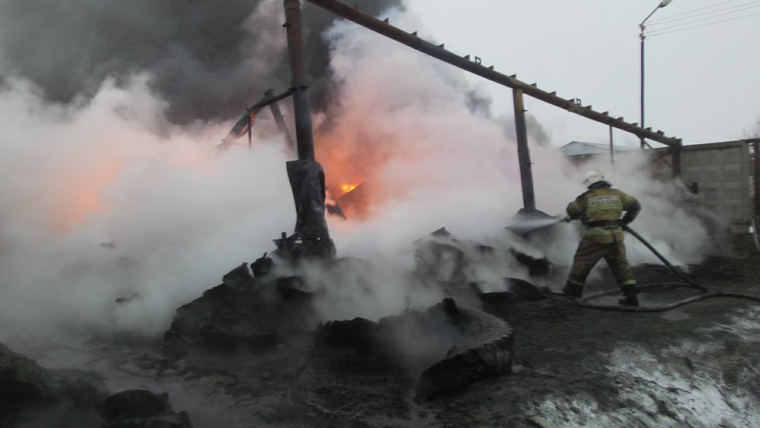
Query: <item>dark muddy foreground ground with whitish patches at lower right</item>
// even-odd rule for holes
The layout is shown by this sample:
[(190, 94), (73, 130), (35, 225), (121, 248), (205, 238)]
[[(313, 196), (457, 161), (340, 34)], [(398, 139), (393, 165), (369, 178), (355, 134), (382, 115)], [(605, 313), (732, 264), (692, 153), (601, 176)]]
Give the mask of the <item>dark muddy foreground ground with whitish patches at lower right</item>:
[[(710, 291), (760, 295), (760, 253), (738, 240), (730, 257), (693, 266)], [(641, 283), (677, 281), (646, 265)], [(609, 287), (603, 273), (587, 293)], [(646, 293), (643, 305), (694, 295)], [(613, 297), (609, 297), (612, 299)], [(194, 427), (695, 426), (760, 424), (760, 306), (736, 298), (663, 312), (579, 307), (575, 300), (486, 303), (514, 329), (512, 373), (429, 400), (416, 373), (354, 350), (317, 349), (293, 332), (259, 352), (165, 352), (134, 338), (6, 342), (49, 369), (103, 377), (111, 391), (168, 392)]]

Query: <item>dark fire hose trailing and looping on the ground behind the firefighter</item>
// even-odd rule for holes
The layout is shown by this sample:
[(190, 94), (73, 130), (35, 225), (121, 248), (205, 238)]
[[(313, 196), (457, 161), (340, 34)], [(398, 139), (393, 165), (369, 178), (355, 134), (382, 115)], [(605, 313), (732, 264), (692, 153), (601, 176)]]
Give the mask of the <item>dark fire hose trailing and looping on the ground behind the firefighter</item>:
[(641, 243), (644, 244), (644, 246), (646, 246), (652, 253), (654, 253), (654, 255), (657, 256), (657, 258), (659, 258), (665, 264), (665, 266), (668, 267), (668, 269), (670, 269), (673, 273), (675, 273), (678, 277), (680, 277), (684, 281), (684, 282), (657, 282), (657, 283), (639, 285), (636, 287), (639, 291), (649, 291), (649, 290), (664, 288), (668, 286), (675, 286), (676, 288), (679, 288), (679, 287), (695, 288), (699, 290), (702, 294), (698, 294), (696, 296), (692, 296), (692, 297), (678, 300), (671, 303), (660, 304), (660, 305), (648, 305), (648, 306), (621, 306), (617, 304), (591, 303), (591, 300), (595, 300), (600, 297), (608, 296), (611, 294), (617, 294), (620, 292), (619, 289), (615, 289), (615, 290), (600, 291), (598, 293), (593, 293), (588, 296), (585, 296), (578, 301), (578, 304), (580, 306), (583, 306), (586, 308), (607, 309), (607, 310), (627, 311), (627, 312), (660, 312), (660, 311), (666, 311), (668, 309), (677, 308), (679, 306), (683, 306), (689, 303), (698, 302), (700, 300), (706, 300), (706, 299), (711, 299), (711, 298), (716, 298), (716, 297), (734, 297), (734, 298), (749, 299), (755, 302), (760, 302), (760, 296), (753, 295), (753, 294), (708, 290), (706, 287), (697, 284), (691, 278), (689, 278), (683, 272), (681, 272), (681, 270), (673, 266), (672, 263), (670, 263), (665, 257), (663, 257), (663, 255), (660, 254), (659, 251), (657, 251), (649, 242), (647, 242), (644, 238), (642, 238), (641, 235), (636, 233), (636, 231), (634, 231), (633, 229), (631, 229), (630, 227), (626, 225), (623, 225), (622, 227), (623, 227), (623, 230), (630, 233), (636, 239), (641, 241)]

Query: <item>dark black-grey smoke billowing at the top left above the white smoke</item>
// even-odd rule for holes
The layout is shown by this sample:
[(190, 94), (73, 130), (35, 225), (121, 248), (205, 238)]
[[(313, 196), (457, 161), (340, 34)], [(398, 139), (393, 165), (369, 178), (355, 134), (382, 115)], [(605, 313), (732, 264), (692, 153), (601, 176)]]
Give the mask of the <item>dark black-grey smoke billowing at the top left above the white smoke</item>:
[[(402, 0), (363, 0), (369, 14)], [(312, 99), (323, 105), (336, 17), (302, 2)], [(290, 85), (281, 0), (3, 0), (0, 83), (40, 87), (45, 99), (86, 101), (106, 79), (147, 73), (178, 124), (229, 119), (269, 88)]]

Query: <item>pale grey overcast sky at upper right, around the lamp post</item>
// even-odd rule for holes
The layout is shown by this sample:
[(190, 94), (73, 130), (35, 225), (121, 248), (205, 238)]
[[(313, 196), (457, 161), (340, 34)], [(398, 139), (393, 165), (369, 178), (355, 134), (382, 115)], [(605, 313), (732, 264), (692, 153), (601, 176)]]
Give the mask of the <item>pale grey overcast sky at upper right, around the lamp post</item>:
[[(421, 28), (406, 30), (563, 98), (639, 122), (639, 23), (658, 0), (406, 3), (421, 22)], [(646, 126), (684, 144), (742, 138), (760, 115), (760, 1), (674, 0), (646, 25)], [(655, 35), (666, 31), (673, 32)], [(480, 84), (492, 94), (496, 114), (511, 114), (507, 88)], [(552, 145), (609, 141), (604, 125), (532, 98), (526, 107)], [(621, 131), (614, 138), (619, 144), (637, 141)]]

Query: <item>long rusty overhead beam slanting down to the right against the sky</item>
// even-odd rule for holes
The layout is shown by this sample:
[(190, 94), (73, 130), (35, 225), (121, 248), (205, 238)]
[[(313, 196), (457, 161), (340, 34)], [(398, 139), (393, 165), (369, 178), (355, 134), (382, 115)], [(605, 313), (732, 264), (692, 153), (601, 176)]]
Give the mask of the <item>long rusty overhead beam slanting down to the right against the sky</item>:
[(663, 134), (661, 131), (653, 132), (651, 128), (644, 129), (639, 127), (637, 124), (625, 122), (622, 120), (622, 118), (613, 118), (606, 113), (599, 113), (597, 111), (594, 111), (590, 106), (584, 107), (576, 104), (574, 100), (566, 100), (564, 98), (558, 97), (554, 93), (549, 93), (539, 89), (535, 86), (535, 84), (527, 84), (525, 82), (517, 80), (513, 76), (507, 76), (505, 74), (494, 71), (493, 67), (486, 67), (478, 62), (470, 61), (469, 55), (467, 57), (461, 57), (453, 52), (444, 49), (443, 45), (434, 45), (417, 37), (416, 33), (407, 33), (406, 31), (396, 28), (387, 22), (381, 21), (354, 7), (347, 6), (335, 0), (306, 1), (313, 3), (323, 9), (326, 9), (340, 17), (353, 21), (362, 27), (368, 28), (376, 33), (380, 33), (383, 36), (416, 49), (424, 54), (447, 62), (470, 73), (476, 74), (494, 83), (498, 83), (512, 89), (519, 89), (523, 91), (525, 95), (567, 110), (571, 113), (575, 113), (596, 122), (629, 132), (638, 136), (639, 138), (648, 138), (670, 147), (681, 146), (681, 141), (679, 139), (666, 137), (665, 134)]

